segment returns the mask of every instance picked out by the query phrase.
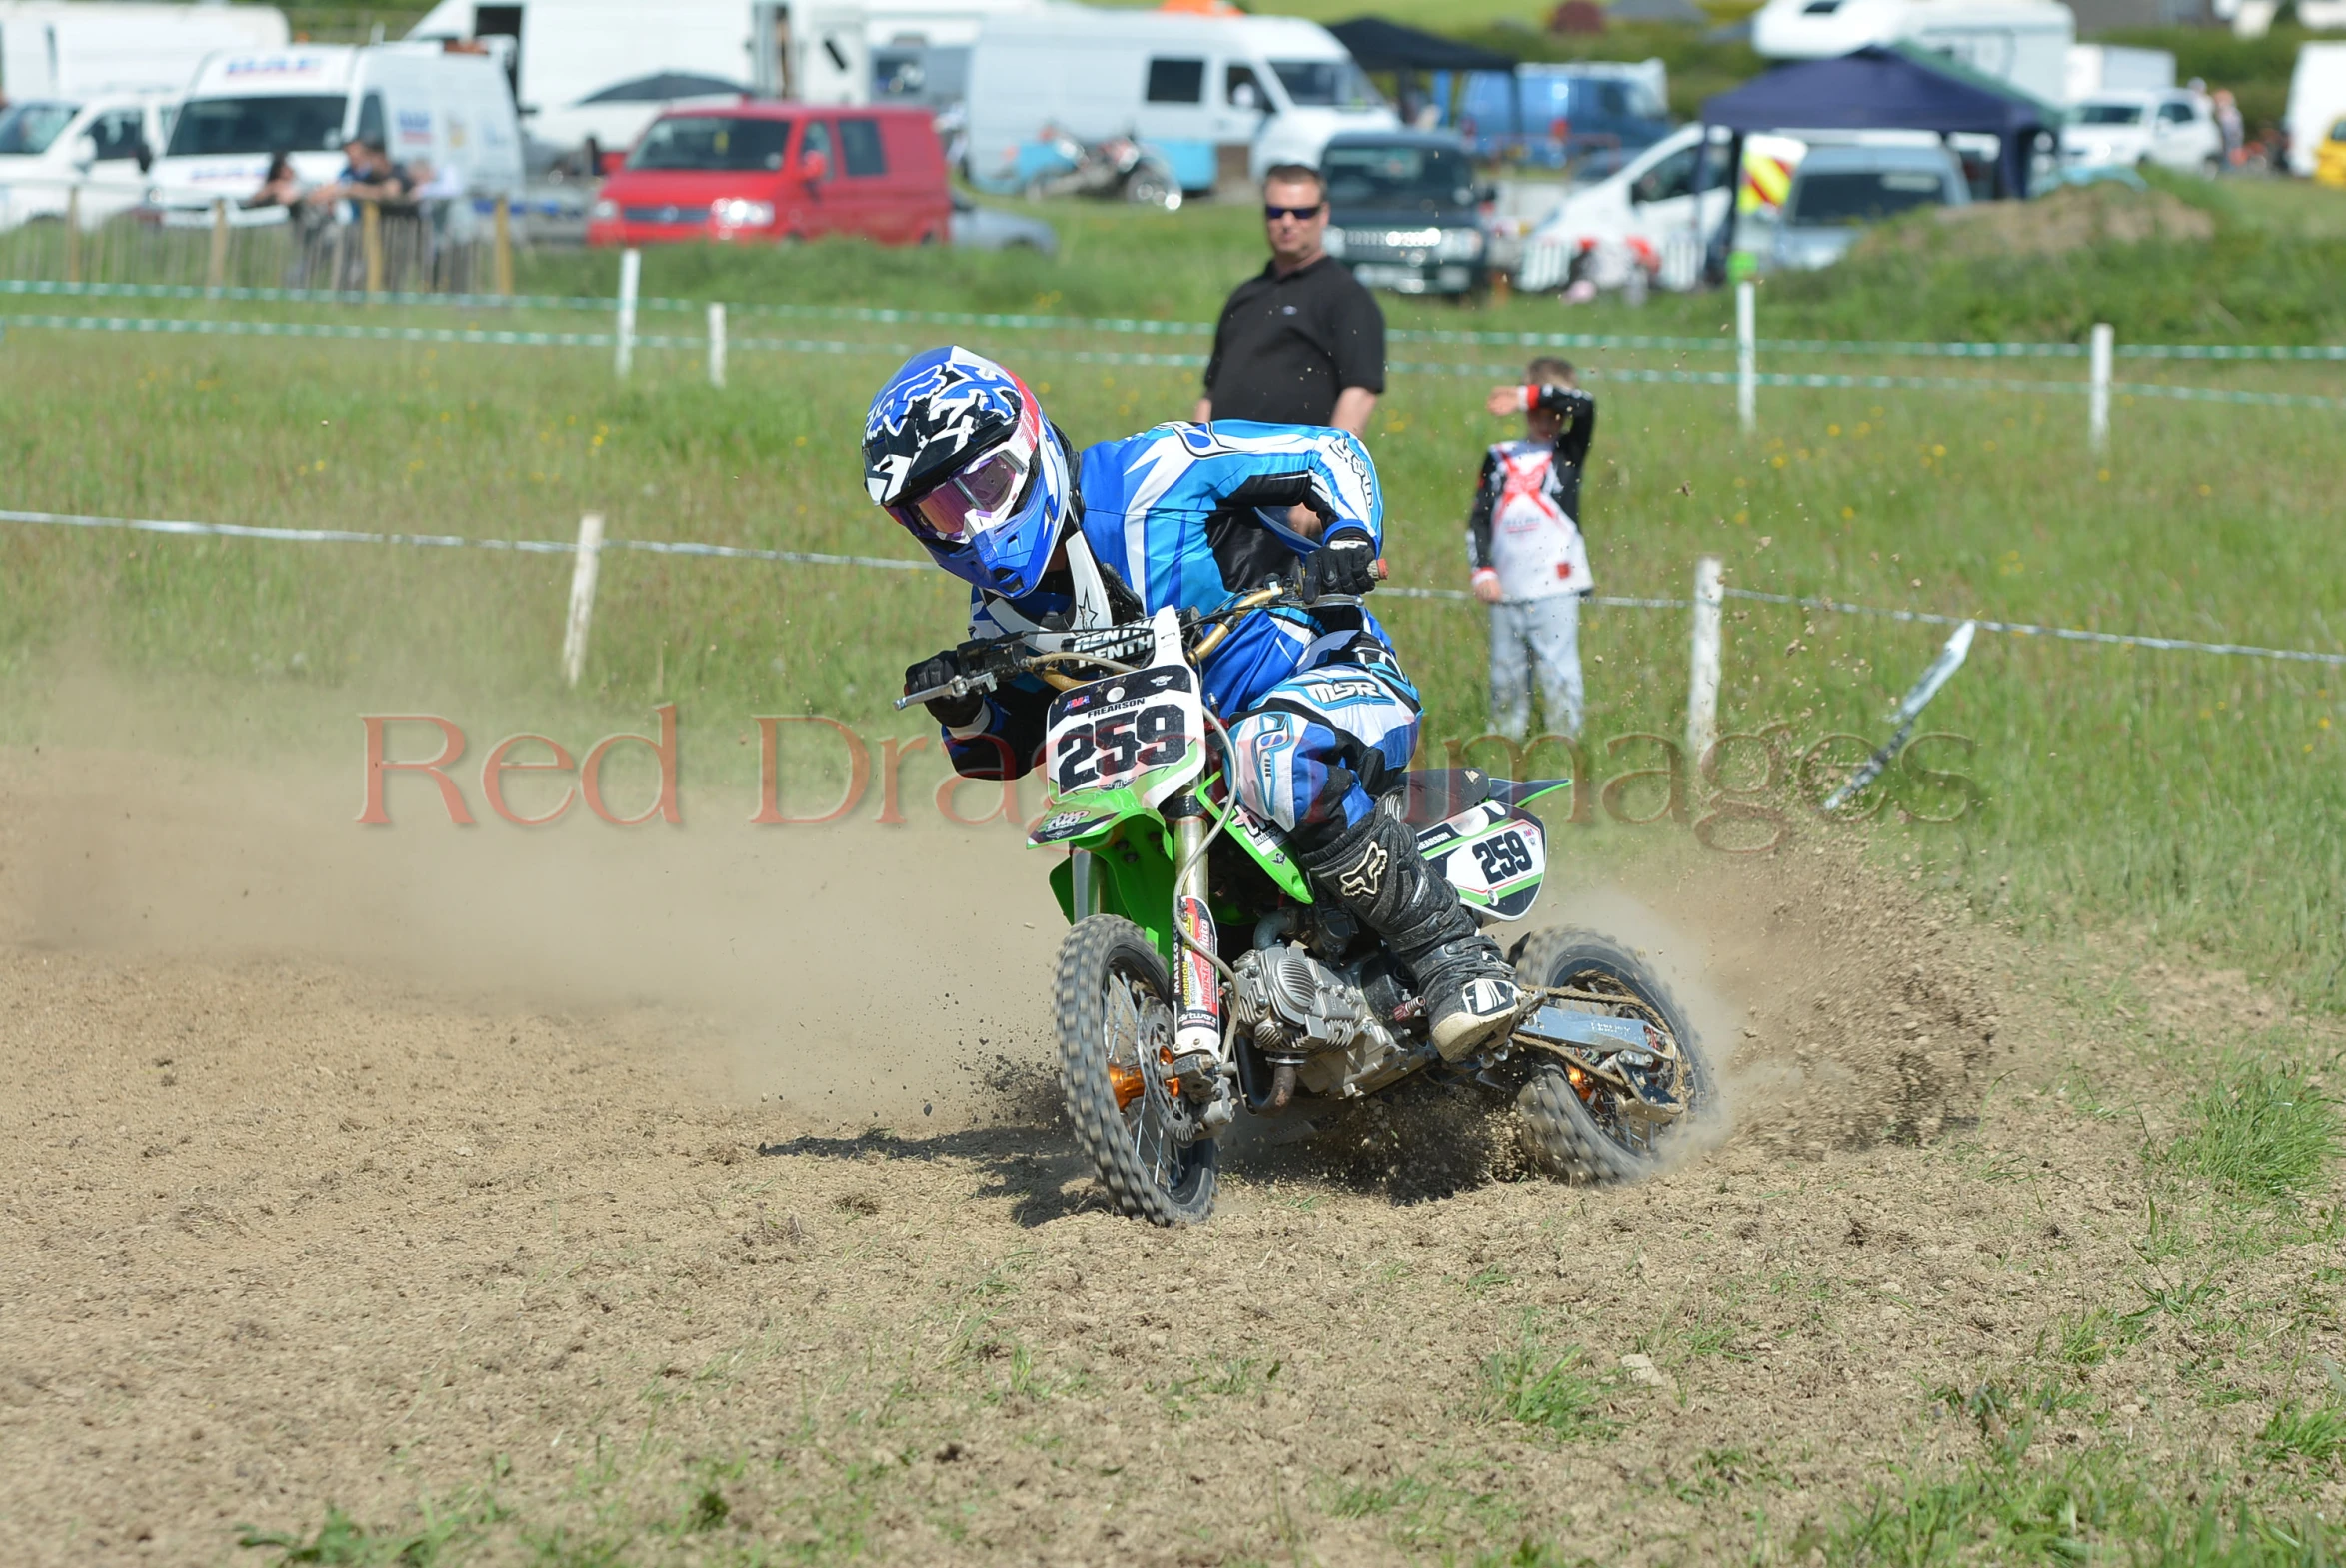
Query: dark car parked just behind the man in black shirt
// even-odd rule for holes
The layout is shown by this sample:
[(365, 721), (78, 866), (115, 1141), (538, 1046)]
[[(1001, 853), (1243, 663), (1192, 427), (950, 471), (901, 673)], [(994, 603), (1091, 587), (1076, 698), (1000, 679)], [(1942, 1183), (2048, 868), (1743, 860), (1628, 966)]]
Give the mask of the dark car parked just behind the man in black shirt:
[(1490, 286), (1490, 234), (1464, 136), (1354, 131), (1321, 152), (1328, 180), (1328, 255), (1370, 288), (1480, 293)]

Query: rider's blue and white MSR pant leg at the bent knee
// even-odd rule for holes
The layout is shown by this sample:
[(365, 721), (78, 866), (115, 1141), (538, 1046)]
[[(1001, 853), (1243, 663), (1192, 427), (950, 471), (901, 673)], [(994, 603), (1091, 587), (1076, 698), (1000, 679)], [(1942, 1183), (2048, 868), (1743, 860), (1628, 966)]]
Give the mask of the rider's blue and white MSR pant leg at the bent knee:
[(1335, 834), (1377, 809), (1417, 755), (1417, 687), (1377, 663), (1288, 675), (1229, 724), (1239, 804), (1290, 837)]

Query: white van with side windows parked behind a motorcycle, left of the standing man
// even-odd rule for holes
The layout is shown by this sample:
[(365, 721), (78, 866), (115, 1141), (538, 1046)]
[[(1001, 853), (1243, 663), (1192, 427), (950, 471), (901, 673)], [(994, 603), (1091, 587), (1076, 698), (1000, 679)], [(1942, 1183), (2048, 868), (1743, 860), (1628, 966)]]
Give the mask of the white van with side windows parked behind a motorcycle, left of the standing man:
[(1272, 164), (1316, 164), (1330, 136), (1401, 129), (1316, 21), (1086, 5), (988, 16), (969, 59), (969, 180), (1021, 190), (1053, 169), (1046, 124), (1133, 136), (1182, 190), (1213, 190), (1241, 155), (1260, 180)]

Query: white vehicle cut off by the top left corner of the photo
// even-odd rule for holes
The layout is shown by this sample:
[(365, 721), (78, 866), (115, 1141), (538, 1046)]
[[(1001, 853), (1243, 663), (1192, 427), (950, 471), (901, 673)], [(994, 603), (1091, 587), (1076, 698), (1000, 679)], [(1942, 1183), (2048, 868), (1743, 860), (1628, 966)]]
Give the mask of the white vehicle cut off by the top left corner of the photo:
[(282, 49), (272, 5), (0, 0), (0, 98), (178, 91), (216, 49)]

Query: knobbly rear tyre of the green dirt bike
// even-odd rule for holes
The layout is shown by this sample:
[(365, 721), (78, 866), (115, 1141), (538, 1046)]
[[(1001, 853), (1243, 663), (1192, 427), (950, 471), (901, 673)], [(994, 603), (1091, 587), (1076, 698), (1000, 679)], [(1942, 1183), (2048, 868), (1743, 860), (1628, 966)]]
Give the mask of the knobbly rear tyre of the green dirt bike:
[(1654, 1137), (1652, 1148), (1630, 1148), (1605, 1132), (1579, 1090), (1572, 1088), (1572, 1078), (1555, 1062), (1537, 1062), (1530, 1069), (1530, 1083), (1516, 1097), (1525, 1144), (1548, 1174), (1591, 1186), (1628, 1186), (1659, 1177), (1689, 1144), (1691, 1125), (1717, 1109), (1710, 1066), (1703, 1062), (1687, 1010), (1670, 996), (1670, 987), (1654, 975), (1645, 959), (1612, 938), (1572, 928), (1534, 930), (1525, 938), (1516, 949), (1516, 973), (1541, 987), (1560, 987), (1574, 975), (1602, 975), (1661, 1015), (1687, 1059), (1687, 1088), (1694, 1104), (1684, 1120)]

